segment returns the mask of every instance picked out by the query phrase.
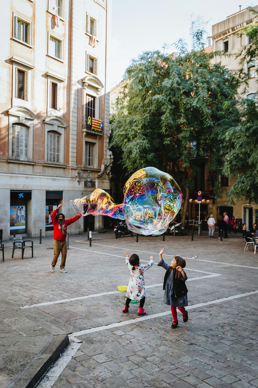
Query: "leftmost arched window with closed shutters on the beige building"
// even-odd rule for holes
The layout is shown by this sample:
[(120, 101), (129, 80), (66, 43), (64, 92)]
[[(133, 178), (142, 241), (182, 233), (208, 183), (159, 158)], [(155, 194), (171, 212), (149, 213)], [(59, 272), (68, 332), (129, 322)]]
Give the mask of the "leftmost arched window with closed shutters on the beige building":
[(19, 123), (12, 125), (12, 159), (28, 160), (28, 128)]

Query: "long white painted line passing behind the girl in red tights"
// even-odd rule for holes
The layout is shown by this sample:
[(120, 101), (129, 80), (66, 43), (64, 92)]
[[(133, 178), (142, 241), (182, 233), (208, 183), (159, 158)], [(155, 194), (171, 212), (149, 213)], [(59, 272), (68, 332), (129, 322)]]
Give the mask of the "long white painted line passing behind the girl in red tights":
[[(196, 305), (188, 306), (187, 310), (191, 310), (193, 308), (198, 308), (198, 307), (203, 307), (203, 306), (208, 306), (208, 305), (213, 305), (215, 303), (222, 303), (222, 302), (229, 301), (229, 300), (236, 299), (236, 298), (243, 298), (244, 296), (249, 296), (249, 295), (257, 294), (257, 293), (258, 293), (258, 290), (250, 291), (250, 292), (247, 292), (247, 293), (244, 293), (244, 294), (237, 294), (237, 295), (227, 296), (226, 298), (210, 300), (208, 302), (197, 303)], [(164, 317), (164, 315), (169, 315), (169, 314), (171, 314), (170, 310), (169, 311), (164, 311), (162, 313), (152, 314), (152, 315), (144, 315), (143, 317), (139, 317), (139, 318), (135, 318), (135, 319), (124, 320), (124, 321), (121, 321), (121, 322), (115, 322), (115, 323), (112, 323), (112, 324), (106, 325), (106, 326), (92, 327), (92, 329), (76, 331), (75, 333), (70, 334), (70, 338), (76, 338), (76, 337), (79, 337), (79, 336), (83, 336), (84, 334), (95, 333), (96, 331), (113, 329), (113, 327), (126, 326), (126, 325), (130, 325), (132, 323), (141, 322), (141, 321), (147, 320), (147, 319)]]

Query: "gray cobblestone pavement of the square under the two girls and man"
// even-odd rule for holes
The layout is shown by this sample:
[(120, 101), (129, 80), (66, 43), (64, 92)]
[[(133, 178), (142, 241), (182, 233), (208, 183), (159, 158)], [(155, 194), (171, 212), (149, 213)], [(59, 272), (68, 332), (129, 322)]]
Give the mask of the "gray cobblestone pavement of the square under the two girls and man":
[[(206, 233), (193, 241), (191, 236), (166, 236), (164, 242), (162, 236), (140, 236), (137, 243), (135, 237), (106, 233), (93, 234), (92, 247), (85, 236), (70, 236), (67, 274), (59, 270), (60, 258), (50, 272), (52, 241), (45, 238), (39, 245), (35, 239), (34, 258), (26, 258), (25, 251), (24, 260), (16, 252), (12, 259), (12, 249), (5, 249), (0, 365), (10, 351), (9, 332), (32, 335), (33, 327), (36, 338), (38, 327), (54, 335), (73, 333), (71, 338), (81, 341), (55, 382), (48, 377), (50, 369), (39, 385), (43, 388), (258, 387), (257, 293), (252, 293), (258, 290), (258, 255), (243, 251), (240, 236), (222, 242)], [(162, 246), (168, 263), (172, 255), (186, 257), (189, 320), (183, 323), (178, 312), (176, 329), (163, 303), (165, 271), (156, 265)], [(155, 265), (145, 272), (144, 317), (137, 316), (138, 305), (122, 313), (125, 293), (117, 286), (128, 284), (125, 250), (138, 253), (142, 263), (154, 256)], [(20, 308), (35, 304), (40, 305)], [(22, 324), (10, 317), (11, 310), (22, 312)], [(25, 359), (27, 351), (20, 346), (17, 357), (20, 352)], [(16, 388), (13, 381), (11, 371), (0, 371), (1, 388)]]

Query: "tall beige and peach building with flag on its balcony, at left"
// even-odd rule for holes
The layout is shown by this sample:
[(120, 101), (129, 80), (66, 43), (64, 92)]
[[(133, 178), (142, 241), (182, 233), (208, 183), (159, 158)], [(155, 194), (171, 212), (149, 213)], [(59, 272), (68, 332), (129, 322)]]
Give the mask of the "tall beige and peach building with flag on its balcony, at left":
[[(0, 229), (51, 235), (59, 203), (109, 190), (111, 0), (9, 0), (0, 26)], [(84, 175), (82, 175), (84, 174)], [(75, 211), (68, 202), (67, 218)], [(100, 231), (103, 217), (69, 227)]]

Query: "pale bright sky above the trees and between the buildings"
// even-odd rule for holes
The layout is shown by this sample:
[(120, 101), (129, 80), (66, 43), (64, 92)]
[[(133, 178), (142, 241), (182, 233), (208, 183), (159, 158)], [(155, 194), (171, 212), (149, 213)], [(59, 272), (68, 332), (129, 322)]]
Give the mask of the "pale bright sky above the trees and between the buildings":
[[(142, 52), (176, 51), (180, 38), (191, 48), (191, 20), (202, 17), (207, 36), (212, 25), (257, 2), (246, 0), (112, 0), (110, 85), (119, 83), (133, 58)], [(110, 47), (110, 46), (109, 46)]]

